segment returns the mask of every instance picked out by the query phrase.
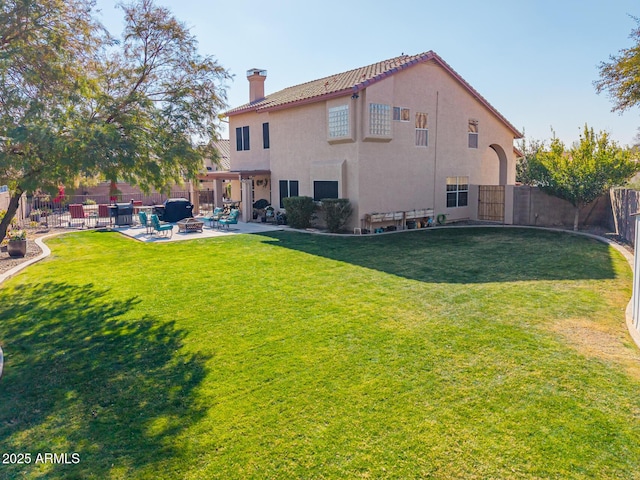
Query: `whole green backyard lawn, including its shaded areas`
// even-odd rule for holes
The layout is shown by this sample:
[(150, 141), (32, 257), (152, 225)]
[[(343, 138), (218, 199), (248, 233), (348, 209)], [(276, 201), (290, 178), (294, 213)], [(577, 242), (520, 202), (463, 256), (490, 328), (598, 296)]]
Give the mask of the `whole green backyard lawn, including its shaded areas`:
[[(0, 288), (0, 478), (638, 478), (631, 271), (525, 229), (141, 244)], [(78, 453), (77, 464), (35, 463)]]

